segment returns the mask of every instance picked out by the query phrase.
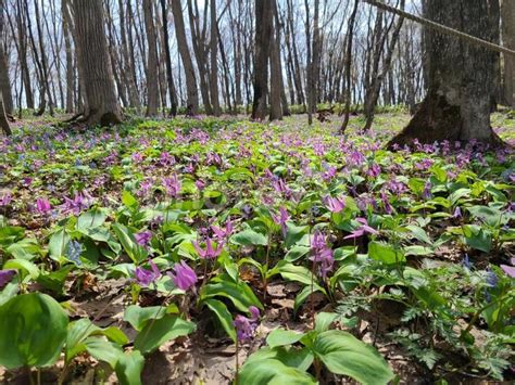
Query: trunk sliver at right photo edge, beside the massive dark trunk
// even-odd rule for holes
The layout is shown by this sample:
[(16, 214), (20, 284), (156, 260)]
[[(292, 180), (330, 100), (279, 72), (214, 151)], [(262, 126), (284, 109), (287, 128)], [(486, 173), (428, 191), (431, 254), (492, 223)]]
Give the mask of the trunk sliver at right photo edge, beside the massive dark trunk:
[[(515, 50), (515, 1), (502, 2), (502, 39)], [(515, 56), (504, 54), (503, 102), (515, 108)]]

